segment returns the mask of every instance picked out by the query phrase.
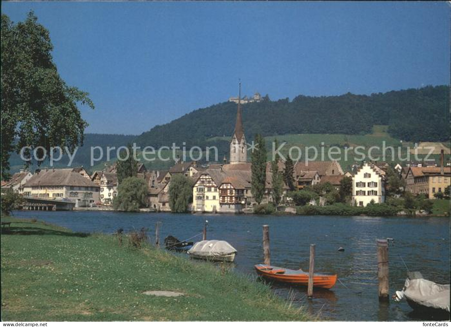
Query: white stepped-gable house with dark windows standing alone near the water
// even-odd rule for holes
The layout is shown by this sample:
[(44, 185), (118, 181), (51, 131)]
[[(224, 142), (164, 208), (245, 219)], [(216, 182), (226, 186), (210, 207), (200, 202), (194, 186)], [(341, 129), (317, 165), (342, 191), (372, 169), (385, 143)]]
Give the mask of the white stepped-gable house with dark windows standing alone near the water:
[(352, 177), (352, 203), (366, 206), (385, 202), (385, 172), (374, 164), (364, 163)]

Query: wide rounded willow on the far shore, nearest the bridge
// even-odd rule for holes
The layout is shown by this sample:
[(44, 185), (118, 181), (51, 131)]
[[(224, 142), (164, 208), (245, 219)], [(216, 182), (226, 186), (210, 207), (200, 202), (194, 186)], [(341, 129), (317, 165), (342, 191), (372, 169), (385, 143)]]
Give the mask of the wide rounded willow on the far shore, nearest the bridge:
[(147, 204), (147, 185), (138, 177), (125, 178), (117, 187), (113, 207), (119, 211), (139, 211)]

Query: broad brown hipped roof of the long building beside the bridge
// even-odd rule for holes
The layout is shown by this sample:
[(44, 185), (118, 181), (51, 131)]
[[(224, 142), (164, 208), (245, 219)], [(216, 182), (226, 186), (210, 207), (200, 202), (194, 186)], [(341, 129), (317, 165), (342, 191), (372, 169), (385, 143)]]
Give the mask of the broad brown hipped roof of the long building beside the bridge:
[(73, 168), (48, 169), (35, 173), (24, 186), (96, 186), (98, 185)]

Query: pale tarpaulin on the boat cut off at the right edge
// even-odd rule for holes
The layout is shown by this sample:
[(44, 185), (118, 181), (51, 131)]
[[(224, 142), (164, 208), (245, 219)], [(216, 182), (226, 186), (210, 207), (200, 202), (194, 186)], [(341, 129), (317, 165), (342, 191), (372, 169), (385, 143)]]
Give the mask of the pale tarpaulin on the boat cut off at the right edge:
[(450, 285), (436, 284), (423, 278), (407, 278), (404, 287), (406, 298), (429, 308), (450, 312)]

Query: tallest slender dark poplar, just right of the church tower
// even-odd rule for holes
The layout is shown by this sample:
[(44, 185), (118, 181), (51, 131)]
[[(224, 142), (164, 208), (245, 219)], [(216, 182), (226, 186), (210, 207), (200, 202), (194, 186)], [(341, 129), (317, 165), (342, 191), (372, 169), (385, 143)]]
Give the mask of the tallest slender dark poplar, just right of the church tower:
[(266, 145), (265, 139), (260, 135), (255, 135), (255, 150), (252, 151), (252, 195), (255, 201), (260, 204), (265, 194), (266, 183)]

